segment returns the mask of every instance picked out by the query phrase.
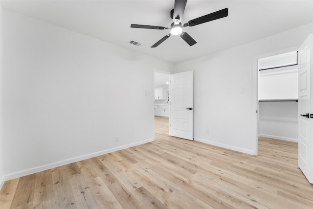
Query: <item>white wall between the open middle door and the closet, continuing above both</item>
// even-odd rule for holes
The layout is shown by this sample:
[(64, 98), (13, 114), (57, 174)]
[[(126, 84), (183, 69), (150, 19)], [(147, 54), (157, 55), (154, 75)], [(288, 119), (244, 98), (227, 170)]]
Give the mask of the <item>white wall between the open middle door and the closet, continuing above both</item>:
[(176, 65), (194, 70), (194, 138), (256, 154), (255, 57), (300, 46), (310, 33), (313, 23)]

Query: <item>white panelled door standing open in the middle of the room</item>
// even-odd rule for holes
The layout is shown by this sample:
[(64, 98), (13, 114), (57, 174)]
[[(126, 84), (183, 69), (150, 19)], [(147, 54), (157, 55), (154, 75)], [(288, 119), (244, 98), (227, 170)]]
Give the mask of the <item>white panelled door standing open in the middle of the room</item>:
[(193, 140), (193, 71), (171, 74), (170, 135)]

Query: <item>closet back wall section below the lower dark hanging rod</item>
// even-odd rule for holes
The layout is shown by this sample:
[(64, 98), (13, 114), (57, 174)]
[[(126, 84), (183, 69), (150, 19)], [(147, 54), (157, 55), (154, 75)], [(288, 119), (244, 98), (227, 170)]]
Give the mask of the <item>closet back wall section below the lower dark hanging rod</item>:
[(298, 102), (259, 102), (259, 135), (298, 141)]

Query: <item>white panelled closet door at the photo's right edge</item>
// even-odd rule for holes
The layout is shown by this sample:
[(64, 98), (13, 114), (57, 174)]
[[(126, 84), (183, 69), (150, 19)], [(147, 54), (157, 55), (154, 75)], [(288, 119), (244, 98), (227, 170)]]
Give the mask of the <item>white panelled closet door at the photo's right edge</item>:
[(298, 164), (313, 184), (313, 34), (299, 48)]

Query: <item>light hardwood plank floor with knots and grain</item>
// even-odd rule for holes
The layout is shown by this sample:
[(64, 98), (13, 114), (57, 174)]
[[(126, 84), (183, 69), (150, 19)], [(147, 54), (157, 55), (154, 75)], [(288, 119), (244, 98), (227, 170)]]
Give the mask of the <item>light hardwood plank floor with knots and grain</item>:
[(4, 183), (0, 209), (313, 209), (297, 144), (259, 140), (259, 156), (168, 136)]

